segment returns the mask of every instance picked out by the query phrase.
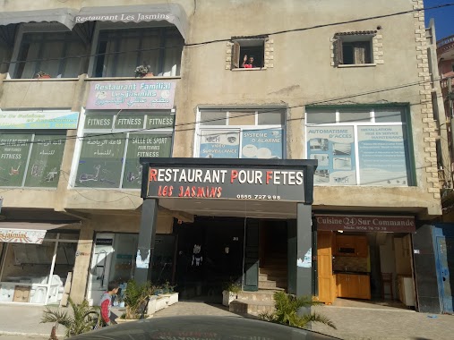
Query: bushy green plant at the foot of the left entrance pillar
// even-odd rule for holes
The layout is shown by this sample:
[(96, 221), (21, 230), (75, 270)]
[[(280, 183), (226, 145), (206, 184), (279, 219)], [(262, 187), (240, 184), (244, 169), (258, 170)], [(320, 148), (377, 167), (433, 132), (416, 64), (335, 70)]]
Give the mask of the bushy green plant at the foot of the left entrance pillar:
[(119, 318), (116, 318), (116, 322), (122, 323), (125, 321), (146, 318), (145, 311), (151, 293), (152, 287), (150, 282), (139, 285), (135, 280), (128, 281), (123, 297), (126, 312)]

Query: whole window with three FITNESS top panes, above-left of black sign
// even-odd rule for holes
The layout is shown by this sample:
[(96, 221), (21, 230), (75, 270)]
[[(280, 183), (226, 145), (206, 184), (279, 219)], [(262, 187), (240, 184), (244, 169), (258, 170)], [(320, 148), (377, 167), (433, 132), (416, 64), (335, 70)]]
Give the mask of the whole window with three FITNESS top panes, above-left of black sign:
[(174, 123), (174, 114), (87, 114), (74, 186), (140, 189), (140, 157), (170, 157)]

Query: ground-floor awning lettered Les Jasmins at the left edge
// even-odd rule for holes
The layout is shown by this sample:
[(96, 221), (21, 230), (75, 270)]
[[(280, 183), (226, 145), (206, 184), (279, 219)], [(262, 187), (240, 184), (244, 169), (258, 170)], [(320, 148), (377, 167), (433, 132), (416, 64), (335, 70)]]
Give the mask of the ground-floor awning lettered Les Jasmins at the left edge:
[(64, 225), (68, 224), (2, 222), (0, 223), (0, 242), (41, 244), (47, 230)]

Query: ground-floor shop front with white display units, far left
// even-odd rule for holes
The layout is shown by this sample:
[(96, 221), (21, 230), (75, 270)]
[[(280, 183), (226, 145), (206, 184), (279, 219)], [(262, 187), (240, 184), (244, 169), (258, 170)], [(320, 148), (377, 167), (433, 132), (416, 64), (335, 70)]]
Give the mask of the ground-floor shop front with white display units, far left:
[(78, 230), (60, 229), (67, 224), (25, 222), (3, 222), (0, 227), (0, 302), (42, 305), (66, 300)]

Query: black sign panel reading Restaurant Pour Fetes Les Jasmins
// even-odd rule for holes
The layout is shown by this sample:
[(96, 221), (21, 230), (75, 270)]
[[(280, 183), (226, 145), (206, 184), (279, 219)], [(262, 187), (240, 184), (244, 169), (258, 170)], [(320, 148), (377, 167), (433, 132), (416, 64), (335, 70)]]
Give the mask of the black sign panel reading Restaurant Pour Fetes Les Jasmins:
[(304, 170), (150, 166), (149, 198), (304, 201)]

